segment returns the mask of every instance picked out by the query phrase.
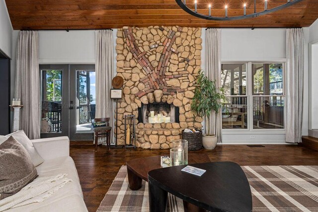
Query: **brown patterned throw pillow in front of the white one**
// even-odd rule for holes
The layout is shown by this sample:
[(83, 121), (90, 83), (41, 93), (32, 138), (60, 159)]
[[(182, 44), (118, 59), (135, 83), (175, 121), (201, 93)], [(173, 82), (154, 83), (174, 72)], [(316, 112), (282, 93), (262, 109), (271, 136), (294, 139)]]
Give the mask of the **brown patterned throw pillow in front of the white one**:
[(38, 175), (29, 153), (10, 136), (0, 144), (0, 200), (20, 191)]

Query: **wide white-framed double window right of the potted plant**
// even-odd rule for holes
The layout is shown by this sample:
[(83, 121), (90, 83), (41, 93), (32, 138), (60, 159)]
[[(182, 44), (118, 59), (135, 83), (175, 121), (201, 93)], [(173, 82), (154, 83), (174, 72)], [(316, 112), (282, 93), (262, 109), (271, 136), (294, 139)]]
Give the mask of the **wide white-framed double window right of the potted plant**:
[(284, 129), (283, 70), (282, 63), (222, 64), (223, 129)]

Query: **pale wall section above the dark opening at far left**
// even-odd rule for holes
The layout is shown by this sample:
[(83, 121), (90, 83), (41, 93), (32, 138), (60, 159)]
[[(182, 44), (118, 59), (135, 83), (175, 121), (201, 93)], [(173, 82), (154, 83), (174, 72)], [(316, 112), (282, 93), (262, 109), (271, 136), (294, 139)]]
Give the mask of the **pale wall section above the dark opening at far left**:
[(4, 0), (0, 0), (0, 49), (12, 58), (12, 24)]

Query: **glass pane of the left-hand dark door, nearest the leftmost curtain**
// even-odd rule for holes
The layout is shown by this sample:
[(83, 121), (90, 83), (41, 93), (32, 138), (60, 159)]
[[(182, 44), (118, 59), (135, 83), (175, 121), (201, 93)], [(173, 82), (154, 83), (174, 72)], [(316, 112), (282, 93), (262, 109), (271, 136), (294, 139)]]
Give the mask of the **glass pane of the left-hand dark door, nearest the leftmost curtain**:
[(62, 132), (62, 70), (41, 70), (41, 133)]

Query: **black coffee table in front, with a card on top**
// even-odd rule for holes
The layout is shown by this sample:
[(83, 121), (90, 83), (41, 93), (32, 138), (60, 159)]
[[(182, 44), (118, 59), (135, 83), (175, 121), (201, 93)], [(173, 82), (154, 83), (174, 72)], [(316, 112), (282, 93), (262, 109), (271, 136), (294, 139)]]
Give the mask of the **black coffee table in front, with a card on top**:
[(150, 212), (165, 212), (167, 192), (202, 210), (252, 211), (249, 183), (237, 163), (209, 162), (193, 166), (207, 171), (199, 177), (181, 171), (185, 167), (182, 165), (148, 173)]

